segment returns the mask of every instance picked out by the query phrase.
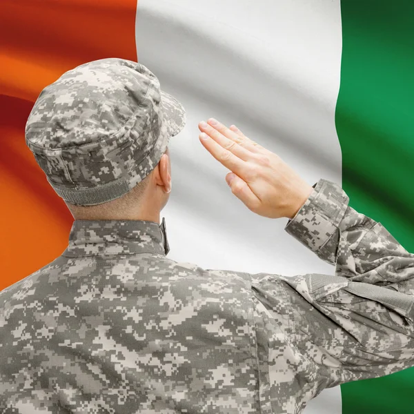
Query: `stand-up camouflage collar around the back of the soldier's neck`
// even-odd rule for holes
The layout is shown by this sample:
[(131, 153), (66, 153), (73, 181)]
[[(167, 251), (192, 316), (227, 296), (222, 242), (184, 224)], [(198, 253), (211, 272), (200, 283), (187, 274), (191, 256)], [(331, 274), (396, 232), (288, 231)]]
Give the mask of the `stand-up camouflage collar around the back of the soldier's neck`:
[(75, 220), (62, 255), (167, 255), (169, 251), (164, 217), (161, 224), (146, 220)]

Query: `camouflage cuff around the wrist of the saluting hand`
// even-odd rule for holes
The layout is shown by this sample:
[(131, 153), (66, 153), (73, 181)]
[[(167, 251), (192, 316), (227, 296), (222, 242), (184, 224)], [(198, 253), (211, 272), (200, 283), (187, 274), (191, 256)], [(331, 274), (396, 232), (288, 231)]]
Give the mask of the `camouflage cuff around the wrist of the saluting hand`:
[(338, 184), (326, 179), (319, 179), (314, 188), (285, 230), (317, 253), (339, 227), (349, 197)]

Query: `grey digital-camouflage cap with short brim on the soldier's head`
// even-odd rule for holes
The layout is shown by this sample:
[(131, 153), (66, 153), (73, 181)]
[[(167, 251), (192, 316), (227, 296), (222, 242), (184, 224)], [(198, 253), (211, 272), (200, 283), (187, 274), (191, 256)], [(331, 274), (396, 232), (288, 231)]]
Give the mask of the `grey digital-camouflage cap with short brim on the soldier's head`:
[(26, 124), (26, 144), (56, 193), (92, 206), (128, 193), (184, 128), (181, 104), (144, 65), (84, 63), (46, 86)]

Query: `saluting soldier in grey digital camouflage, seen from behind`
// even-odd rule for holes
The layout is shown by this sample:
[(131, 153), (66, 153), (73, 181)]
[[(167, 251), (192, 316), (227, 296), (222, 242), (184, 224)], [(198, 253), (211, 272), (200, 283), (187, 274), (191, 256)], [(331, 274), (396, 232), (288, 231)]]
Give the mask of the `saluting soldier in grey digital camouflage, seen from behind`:
[(324, 388), (414, 362), (414, 255), (282, 159), (213, 119), (204, 147), (254, 213), (335, 276), (168, 259), (159, 213), (184, 108), (145, 66), (85, 63), (39, 95), (26, 143), (75, 217), (61, 256), (0, 294), (0, 411), (300, 413)]

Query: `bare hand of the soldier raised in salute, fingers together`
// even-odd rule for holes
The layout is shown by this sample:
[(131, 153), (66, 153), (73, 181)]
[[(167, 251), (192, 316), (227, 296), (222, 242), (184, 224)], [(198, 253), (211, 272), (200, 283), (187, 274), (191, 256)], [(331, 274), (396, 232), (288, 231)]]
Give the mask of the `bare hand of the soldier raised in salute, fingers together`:
[(199, 123), (199, 139), (226, 175), (232, 193), (253, 213), (277, 219), (295, 217), (313, 191), (278, 155), (259, 146), (234, 125), (213, 118)]

